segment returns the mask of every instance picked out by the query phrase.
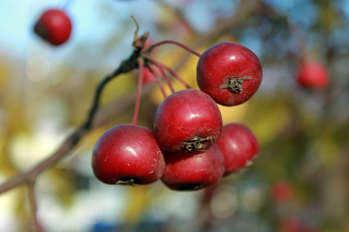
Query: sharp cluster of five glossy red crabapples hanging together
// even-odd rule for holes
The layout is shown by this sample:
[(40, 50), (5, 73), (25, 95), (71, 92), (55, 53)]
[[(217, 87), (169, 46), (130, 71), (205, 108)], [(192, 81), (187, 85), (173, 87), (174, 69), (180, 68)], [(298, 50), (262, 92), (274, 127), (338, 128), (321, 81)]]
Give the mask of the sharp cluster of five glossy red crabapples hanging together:
[(200, 90), (167, 96), (154, 117), (154, 132), (123, 124), (106, 130), (94, 146), (91, 166), (107, 184), (140, 185), (158, 179), (174, 190), (198, 190), (248, 163), (259, 144), (246, 126), (223, 127), (217, 103), (246, 102), (262, 80), (258, 57), (224, 41), (208, 48), (197, 65)]

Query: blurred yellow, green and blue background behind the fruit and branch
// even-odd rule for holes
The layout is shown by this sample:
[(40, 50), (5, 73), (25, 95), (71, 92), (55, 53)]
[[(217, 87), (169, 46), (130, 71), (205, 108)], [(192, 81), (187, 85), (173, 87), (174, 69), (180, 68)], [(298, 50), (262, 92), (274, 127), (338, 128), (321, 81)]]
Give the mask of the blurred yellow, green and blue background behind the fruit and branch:
[[(33, 32), (48, 8), (63, 8), (72, 19), (64, 45)], [(120, 75), (104, 91), (100, 125), (37, 179), (43, 231), (349, 231), (348, 0), (2, 0), (0, 182), (49, 157), (86, 118), (98, 81), (132, 52), (130, 15), (153, 42), (175, 40), (202, 53), (230, 40), (259, 57), (258, 92), (242, 105), (220, 106), (224, 123), (254, 132), (259, 155), (200, 191), (171, 191), (161, 181), (99, 182), (90, 165), (95, 142), (132, 122), (137, 72)], [(155, 57), (197, 88), (197, 57), (174, 45), (158, 47)], [(325, 65), (327, 88), (297, 83), (305, 60)], [(139, 125), (153, 128), (162, 100), (157, 86), (144, 90)], [(24, 186), (0, 195), (1, 232), (29, 230), (27, 195)]]

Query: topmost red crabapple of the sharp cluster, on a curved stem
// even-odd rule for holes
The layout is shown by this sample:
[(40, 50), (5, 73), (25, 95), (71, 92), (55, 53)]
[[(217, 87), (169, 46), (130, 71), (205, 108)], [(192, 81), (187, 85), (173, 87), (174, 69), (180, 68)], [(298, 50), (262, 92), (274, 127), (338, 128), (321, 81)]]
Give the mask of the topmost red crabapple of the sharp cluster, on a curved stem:
[(258, 90), (262, 65), (248, 48), (223, 41), (204, 51), (196, 67), (199, 88), (218, 104), (239, 105)]

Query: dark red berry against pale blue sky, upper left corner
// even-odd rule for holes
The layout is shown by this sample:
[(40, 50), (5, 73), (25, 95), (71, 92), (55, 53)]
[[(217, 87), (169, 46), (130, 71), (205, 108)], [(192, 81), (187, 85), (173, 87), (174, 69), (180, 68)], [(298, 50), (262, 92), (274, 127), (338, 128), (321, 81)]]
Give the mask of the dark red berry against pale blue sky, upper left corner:
[(34, 32), (52, 45), (60, 45), (69, 39), (72, 23), (62, 10), (46, 10), (34, 26)]

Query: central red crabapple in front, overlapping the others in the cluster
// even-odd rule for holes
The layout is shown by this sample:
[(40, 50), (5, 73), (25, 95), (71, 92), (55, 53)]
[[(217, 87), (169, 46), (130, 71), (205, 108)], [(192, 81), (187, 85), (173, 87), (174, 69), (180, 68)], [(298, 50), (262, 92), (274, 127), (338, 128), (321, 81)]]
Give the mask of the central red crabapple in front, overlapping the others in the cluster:
[(196, 89), (180, 90), (166, 97), (154, 118), (155, 135), (171, 152), (206, 150), (221, 136), (222, 127), (217, 104)]

